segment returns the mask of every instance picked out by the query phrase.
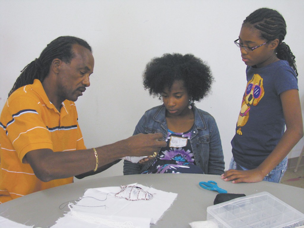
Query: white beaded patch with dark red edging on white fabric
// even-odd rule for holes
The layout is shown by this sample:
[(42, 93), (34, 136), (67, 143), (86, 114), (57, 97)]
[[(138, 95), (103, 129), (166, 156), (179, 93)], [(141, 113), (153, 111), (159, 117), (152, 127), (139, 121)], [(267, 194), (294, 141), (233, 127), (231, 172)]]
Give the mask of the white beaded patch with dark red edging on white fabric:
[(153, 199), (153, 194), (143, 191), (142, 188), (135, 185), (121, 185), (120, 188), (122, 190), (114, 195), (117, 198), (125, 198), (132, 201)]

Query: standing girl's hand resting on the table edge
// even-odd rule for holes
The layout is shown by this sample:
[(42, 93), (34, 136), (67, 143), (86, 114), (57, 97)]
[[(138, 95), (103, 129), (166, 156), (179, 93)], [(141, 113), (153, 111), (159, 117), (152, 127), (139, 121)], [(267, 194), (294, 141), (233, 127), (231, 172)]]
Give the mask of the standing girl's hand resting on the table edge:
[(258, 169), (252, 170), (235, 170), (230, 169), (221, 175), (224, 181), (232, 181), (232, 183), (240, 182), (259, 182), (264, 179), (264, 175)]

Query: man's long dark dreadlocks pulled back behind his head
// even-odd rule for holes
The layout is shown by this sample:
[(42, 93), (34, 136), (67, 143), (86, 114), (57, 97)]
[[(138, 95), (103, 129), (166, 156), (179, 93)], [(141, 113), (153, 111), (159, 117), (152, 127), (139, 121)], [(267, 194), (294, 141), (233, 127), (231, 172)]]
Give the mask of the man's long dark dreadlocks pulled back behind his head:
[(23, 68), (9, 92), (9, 96), (20, 87), (33, 84), (34, 79), (39, 79), (43, 82), (44, 78), (49, 74), (50, 65), (55, 58), (59, 58), (65, 63), (71, 63), (71, 60), (74, 58), (73, 44), (79, 44), (92, 52), (90, 45), (78, 37), (60, 36), (56, 38), (41, 52), (39, 58), (36, 58)]

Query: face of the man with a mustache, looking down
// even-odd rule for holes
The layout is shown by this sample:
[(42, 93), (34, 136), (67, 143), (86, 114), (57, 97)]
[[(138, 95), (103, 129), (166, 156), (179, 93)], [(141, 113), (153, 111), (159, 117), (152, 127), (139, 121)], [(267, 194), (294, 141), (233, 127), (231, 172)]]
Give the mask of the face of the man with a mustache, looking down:
[(61, 62), (58, 77), (60, 100), (77, 101), (90, 86), (89, 76), (93, 73), (94, 57), (90, 50), (78, 44), (73, 45), (74, 58), (71, 63)]

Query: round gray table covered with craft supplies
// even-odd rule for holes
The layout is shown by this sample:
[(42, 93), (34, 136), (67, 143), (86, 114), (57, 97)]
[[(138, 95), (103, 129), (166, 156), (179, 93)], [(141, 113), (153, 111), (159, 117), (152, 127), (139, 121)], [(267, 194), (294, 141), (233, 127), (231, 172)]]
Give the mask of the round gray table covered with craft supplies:
[(228, 193), (251, 195), (269, 192), (293, 208), (304, 213), (304, 189), (289, 185), (261, 181), (258, 183), (232, 184), (216, 175), (204, 174), (139, 174), (78, 181), (72, 184), (35, 192), (0, 205), (0, 216), (26, 225), (47, 228), (63, 217), (67, 207), (59, 209), (63, 202), (78, 199), (87, 188), (128, 185), (138, 183), (158, 190), (178, 193), (177, 199), (157, 225), (151, 228), (185, 228), (193, 221), (205, 221), (207, 207), (213, 205), (217, 192), (205, 190), (200, 181), (216, 181)]

